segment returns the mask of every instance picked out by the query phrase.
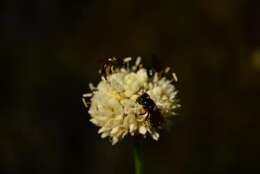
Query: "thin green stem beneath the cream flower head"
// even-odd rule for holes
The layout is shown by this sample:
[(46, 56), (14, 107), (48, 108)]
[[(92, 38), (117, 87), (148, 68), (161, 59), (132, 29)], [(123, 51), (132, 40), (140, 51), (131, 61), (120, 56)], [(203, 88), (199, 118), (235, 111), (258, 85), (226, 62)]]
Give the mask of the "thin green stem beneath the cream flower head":
[(142, 144), (140, 139), (134, 138), (133, 155), (135, 163), (135, 174), (143, 174)]

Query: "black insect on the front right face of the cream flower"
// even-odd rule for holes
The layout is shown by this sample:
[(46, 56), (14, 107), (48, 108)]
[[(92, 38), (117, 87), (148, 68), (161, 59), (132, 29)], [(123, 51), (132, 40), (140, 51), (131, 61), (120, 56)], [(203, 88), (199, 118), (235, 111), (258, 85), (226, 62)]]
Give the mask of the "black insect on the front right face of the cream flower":
[(149, 119), (151, 126), (155, 129), (160, 129), (164, 123), (164, 118), (150, 96), (147, 93), (143, 93), (136, 101), (142, 105), (144, 110), (148, 113), (147, 118)]

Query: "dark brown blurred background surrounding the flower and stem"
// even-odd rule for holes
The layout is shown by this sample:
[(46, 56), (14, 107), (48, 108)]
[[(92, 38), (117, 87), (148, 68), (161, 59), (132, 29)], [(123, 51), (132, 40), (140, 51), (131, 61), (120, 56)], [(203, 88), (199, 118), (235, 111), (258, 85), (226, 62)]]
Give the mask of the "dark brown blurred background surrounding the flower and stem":
[(260, 1), (2, 0), (1, 174), (130, 174), (128, 140), (111, 146), (81, 102), (98, 60), (171, 66), (182, 108), (145, 173), (260, 171)]

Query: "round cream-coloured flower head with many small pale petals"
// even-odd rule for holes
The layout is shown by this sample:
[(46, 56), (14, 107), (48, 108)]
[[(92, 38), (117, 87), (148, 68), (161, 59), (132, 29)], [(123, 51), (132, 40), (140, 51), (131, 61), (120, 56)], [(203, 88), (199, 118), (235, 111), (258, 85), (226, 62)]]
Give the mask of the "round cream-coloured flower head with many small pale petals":
[[(169, 79), (166, 78), (169, 68), (164, 72), (152, 72), (143, 68), (140, 57), (132, 66), (131, 60), (123, 60), (126, 66), (108, 66), (113, 72), (103, 74), (97, 87), (90, 84), (92, 92), (83, 94), (83, 102), (89, 107), (90, 122), (99, 127), (98, 133), (102, 138), (110, 138), (112, 145), (127, 135), (150, 135), (154, 140), (159, 139), (159, 131), (150, 121), (152, 115), (137, 102), (143, 93), (149, 95), (166, 122), (175, 115), (175, 109), (180, 107), (176, 100), (177, 90), (173, 85), (173, 81), (177, 81), (175, 73)], [(86, 98), (90, 98), (89, 105)]]

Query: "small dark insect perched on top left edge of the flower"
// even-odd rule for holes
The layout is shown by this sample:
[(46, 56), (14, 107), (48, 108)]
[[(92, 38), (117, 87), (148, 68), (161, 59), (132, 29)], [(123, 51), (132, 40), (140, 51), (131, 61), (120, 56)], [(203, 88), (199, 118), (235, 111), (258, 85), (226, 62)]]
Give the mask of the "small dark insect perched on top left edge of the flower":
[(107, 78), (107, 76), (124, 67), (126, 67), (126, 63), (122, 59), (116, 57), (109, 58), (103, 63), (101, 75)]

